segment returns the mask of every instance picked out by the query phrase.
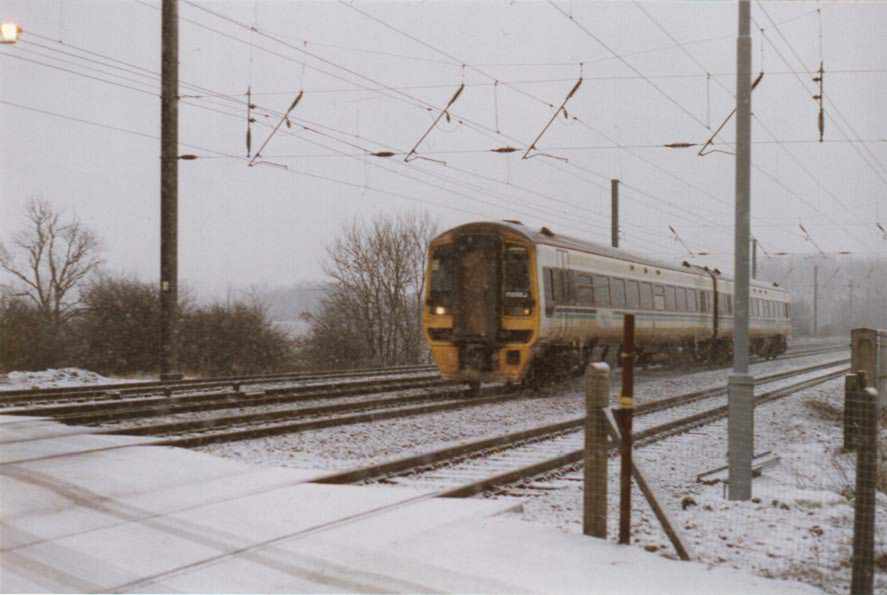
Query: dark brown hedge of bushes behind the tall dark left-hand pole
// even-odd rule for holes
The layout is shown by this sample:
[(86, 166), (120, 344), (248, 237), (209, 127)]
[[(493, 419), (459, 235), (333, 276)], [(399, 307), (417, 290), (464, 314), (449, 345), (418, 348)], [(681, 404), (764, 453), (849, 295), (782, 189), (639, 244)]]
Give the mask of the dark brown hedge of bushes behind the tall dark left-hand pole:
[[(60, 365), (102, 374), (160, 367), (160, 296), (153, 283), (102, 276), (82, 292), (77, 315), (57, 330), (22, 300), (0, 302), (0, 366)], [(290, 364), (291, 342), (257, 301), (179, 304), (179, 368), (191, 374), (256, 374)]]

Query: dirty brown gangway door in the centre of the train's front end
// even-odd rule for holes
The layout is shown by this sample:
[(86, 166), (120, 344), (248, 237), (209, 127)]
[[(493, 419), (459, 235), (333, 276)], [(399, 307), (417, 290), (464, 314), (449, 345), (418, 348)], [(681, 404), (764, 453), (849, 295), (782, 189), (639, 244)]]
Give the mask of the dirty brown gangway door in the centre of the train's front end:
[(457, 334), (492, 343), (499, 328), (501, 242), (496, 236), (466, 235), (457, 246)]

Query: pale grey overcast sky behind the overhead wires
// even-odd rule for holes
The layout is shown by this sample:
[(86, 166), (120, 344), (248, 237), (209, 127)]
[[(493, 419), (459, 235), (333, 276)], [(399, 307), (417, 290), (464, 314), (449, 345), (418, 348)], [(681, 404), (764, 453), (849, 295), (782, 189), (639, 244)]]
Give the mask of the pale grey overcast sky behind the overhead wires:
[[(180, 275), (203, 297), (322, 279), (337, 229), (380, 212), (427, 209), (442, 228), (519, 219), (606, 243), (611, 177), (623, 180), (623, 246), (686, 258), (672, 226), (691, 251), (713, 253), (693, 260), (732, 269), (733, 156), (662, 145), (704, 142), (733, 108), (735, 2), (196, 3), (216, 15), (180, 4), (180, 92), (201, 96), (183, 97), (179, 112), (181, 152), (201, 157), (180, 162)], [(0, 46), (0, 237), (39, 196), (97, 232), (110, 270), (156, 279), (159, 5), (0, 6), (24, 29)], [(766, 73), (753, 98), (753, 233), (769, 252), (887, 256), (875, 226), (887, 227), (887, 4), (763, 5), (753, 7), (754, 70)], [(822, 144), (805, 72), (820, 57)], [(538, 144), (554, 157), (489, 151), (527, 147), (580, 75), (568, 119)], [(428, 106), (463, 82), (452, 121), (418, 149), (446, 165), (366, 156), (408, 151), (437, 115)], [(292, 128), (264, 151), (287, 169), (239, 159), (248, 86), (254, 149), (304, 90)], [(729, 151), (734, 134), (728, 123), (715, 148)]]

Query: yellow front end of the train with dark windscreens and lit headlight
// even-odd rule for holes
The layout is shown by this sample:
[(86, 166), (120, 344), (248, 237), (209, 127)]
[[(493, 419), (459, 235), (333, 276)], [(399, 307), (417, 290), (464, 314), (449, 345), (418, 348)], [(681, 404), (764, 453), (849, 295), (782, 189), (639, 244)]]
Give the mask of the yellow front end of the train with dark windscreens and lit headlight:
[(504, 226), (467, 225), (429, 250), (423, 326), (444, 378), (520, 382), (538, 335), (532, 242)]

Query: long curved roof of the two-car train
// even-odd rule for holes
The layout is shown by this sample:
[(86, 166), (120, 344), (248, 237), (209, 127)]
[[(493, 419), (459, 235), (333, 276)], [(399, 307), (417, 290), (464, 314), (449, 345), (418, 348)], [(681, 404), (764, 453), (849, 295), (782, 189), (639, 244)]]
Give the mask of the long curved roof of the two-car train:
[[(657, 267), (660, 269), (667, 269), (670, 271), (676, 271), (679, 273), (693, 273), (696, 272), (698, 274), (706, 274), (705, 268), (699, 265), (693, 265), (691, 263), (687, 263), (689, 266), (677, 265), (671, 262), (667, 262), (664, 260), (659, 260), (656, 258), (651, 258), (649, 256), (645, 256), (642, 254), (637, 254), (635, 252), (631, 252), (629, 250), (624, 250), (622, 248), (613, 248), (611, 246), (607, 246), (605, 244), (599, 244), (597, 242), (590, 242), (588, 240), (580, 240), (578, 238), (565, 236), (559, 233), (555, 233), (551, 229), (547, 227), (542, 227), (538, 230), (531, 229), (520, 223), (518, 221), (477, 221), (473, 223), (465, 223), (463, 225), (459, 225), (452, 229), (447, 230), (444, 233), (461, 230), (465, 227), (479, 226), (479, 225), (492, 225), (497, 227), (505, 227), (519, 235), (524, 236), (534, 244), (544, 244), (548, 246), (554, 246), (557, 248), (566, 248), (568, 250), (579, 250), (581, 252), (589, 252), (591, 254), (597, 254), (598, 256), (606, 256), (609, 258), (617, 258), (621, 260), (631, 260), (637, 264), (643, 264), (646, 266)], [(443, 235), (443, 234), (441, 234)], [(687, 262), (687, 261), (684, 261)], [(727, 277), (718, 272), (718, 279), (723, 281), (732, 282), (733, 279), (731, 277)], [(766, 283), (764, 281), (759, 281), (753, 279), (751, 281), (751, 285), (759, 288), (767, 288), (767, 289), (779, 289), (785, 291), (782, 287), (774, 283)]]

